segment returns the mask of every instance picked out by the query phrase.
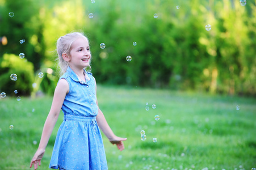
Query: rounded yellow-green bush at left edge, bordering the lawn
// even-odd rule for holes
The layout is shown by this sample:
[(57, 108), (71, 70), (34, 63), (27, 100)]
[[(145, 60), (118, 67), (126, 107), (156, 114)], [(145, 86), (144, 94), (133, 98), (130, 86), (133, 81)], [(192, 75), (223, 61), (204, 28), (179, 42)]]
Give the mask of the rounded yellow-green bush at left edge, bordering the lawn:
[[(7, 96), (14, 96), (14, 90), (18, 95), (30, 95), (33, 83), (33, 64), (26, 59), (20, 59), (14, 54), (4, 54), (0, 59), (0, 90)], [(11, 80), (10, 75), (16, 74), (17, 80)]]

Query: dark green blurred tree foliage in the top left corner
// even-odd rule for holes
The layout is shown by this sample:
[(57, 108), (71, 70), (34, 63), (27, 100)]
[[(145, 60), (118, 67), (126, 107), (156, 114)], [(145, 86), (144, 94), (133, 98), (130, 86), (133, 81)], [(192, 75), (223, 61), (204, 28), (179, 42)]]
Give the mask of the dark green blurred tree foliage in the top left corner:
[[(45, 52), (43, 22), (39, 18), (40, 5), (41, 3), (33, 0), (8, 0), (0, 6), (0, 35), (6, 36), (8, 40), (7, 45), (0, 45), (0, 56), (5, 53), (24, 53), (35, 70), (40, 68)], [(9, 12), (14, 12), (12, 18), (8, 15)], [(25, 42), (20, 44), (22, 39)]]

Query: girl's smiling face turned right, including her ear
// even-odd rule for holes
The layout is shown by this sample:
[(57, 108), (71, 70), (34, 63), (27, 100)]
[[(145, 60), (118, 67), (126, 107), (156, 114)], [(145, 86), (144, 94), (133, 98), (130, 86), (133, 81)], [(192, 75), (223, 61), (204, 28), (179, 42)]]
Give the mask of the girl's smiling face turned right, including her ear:
[(85, 37), (79, 37), (71, 46), (70, 54), (62, 54), (72, 69), (83, 69), (90, 65), (91, 52), (89, 42)]

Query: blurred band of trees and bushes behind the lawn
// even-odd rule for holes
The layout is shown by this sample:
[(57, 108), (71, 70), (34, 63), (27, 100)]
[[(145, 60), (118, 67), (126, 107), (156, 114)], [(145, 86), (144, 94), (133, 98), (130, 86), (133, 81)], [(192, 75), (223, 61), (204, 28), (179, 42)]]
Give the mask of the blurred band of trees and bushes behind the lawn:
[[(53, 94), (59, 76), (56, 41), (83, 31), (98, 83), (255, 96), (255, 3), (0, 0), (0, 36), (8, 40), (0, 45), (0, 90), (11, 95), (15, 86), (22, 95)], [(12, 73), (16, 83), (8, 78)]]

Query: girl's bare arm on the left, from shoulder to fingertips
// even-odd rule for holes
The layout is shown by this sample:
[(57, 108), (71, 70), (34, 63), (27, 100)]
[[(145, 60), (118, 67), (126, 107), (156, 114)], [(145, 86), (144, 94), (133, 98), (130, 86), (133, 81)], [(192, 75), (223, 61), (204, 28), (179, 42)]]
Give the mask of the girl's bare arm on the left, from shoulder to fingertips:
[(47, 146), (49, 138), (51, 137), (52, 130), (58, 120), (58, 115), (60, 114), (63, 101), (68, 92), (69, 92), (68, 82), (66, 82), (65, 79), (61, 79), (55, 88), (52, 107), (47, 116), (47, 119), (45, 120), (39, 147), (37, 148), (37, 151), (31, 160), (30, 168), (32, 167), (33, 164), (35, 169), (37, 169), (37, 163), (41, 165), (41, 159), (43, 158), (45, 148)]

